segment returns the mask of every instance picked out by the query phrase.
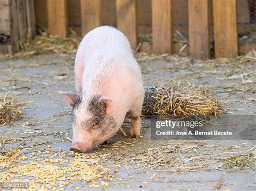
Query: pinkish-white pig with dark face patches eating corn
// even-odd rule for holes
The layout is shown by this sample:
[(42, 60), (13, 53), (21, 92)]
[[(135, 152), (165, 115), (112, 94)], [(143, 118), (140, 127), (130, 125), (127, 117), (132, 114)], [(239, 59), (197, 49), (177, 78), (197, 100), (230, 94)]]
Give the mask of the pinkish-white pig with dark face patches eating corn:
[(129, 137), (138, 138), (144, 100), (142, 72), (129, 40), (111, 26), (85, 35), (75, 59), (77, 94), (60, 92), (73, 108), (71, 151), (86, 152), (111, 138), (131, 116)]

